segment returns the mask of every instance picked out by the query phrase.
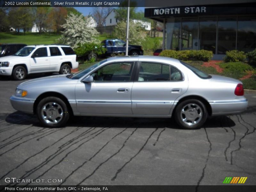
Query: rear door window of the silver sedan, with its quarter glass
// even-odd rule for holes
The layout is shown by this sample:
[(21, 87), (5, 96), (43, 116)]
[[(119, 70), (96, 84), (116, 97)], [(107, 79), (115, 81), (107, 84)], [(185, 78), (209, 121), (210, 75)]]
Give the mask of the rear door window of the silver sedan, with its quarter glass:
[(180, 81), (180, 71), (170, 65), (141, 62), (138, 81)]

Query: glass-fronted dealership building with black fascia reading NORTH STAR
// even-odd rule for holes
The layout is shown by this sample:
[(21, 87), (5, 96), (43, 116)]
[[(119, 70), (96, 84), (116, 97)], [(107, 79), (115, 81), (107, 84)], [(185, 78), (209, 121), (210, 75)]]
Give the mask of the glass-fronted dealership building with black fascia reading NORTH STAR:
[(210, 50), (220, 60), (256, 48), (256, 0), (158, 1), (145, 17), (164, 23), (163, 49)]

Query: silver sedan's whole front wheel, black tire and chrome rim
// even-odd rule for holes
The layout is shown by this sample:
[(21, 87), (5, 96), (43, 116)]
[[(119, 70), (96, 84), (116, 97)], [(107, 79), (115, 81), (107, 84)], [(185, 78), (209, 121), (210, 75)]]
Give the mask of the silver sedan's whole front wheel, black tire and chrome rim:
[(68, 119), (70, 111), (67, 104), (57, 97), (46, 97), (42, 99), (36, 108), (36, 115), (45, 127), (62, 127)]

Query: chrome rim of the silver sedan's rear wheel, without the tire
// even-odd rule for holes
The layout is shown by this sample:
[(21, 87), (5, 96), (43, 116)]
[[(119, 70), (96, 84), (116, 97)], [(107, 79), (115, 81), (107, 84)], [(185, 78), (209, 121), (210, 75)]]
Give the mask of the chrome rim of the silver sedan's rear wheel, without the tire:
[(203, 110), (197, 104), (189, 103), (182, 108), (180, 116), (185, 124), (192, 126), (200, 122)]

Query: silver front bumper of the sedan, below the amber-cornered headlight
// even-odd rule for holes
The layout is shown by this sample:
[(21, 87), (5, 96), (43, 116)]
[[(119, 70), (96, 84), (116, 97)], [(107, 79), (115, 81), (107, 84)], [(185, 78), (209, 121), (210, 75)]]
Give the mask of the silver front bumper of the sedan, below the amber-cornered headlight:
[(16, 97), (16, 96), (12, 95), (10, 97), (10, 102), (12, 104), (12, 107), (14, 109), (16, 109), (17, 111), (22, 111), (24, 113), (34, 114), (33, 113), (33, 106), (34, 106), (35, 100)]

